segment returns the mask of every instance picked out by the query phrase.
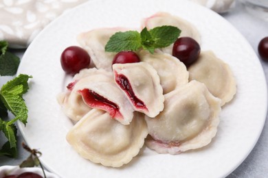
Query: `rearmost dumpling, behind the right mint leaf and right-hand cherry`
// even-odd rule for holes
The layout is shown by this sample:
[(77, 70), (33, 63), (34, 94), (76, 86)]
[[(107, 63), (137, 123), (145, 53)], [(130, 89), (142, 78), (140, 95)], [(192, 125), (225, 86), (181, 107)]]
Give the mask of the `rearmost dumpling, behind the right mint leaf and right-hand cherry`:
[[(201, 44), (201, 36), (197, 28), (188, 21), (179, 18), (178, 16), (172, 16), (166, 12), (158, 12), (153, 16), (145, 18), (142, 22), (142, 28), (147, 27), (147, 29), (153, 29), (154, 27), (160, 27), (163, 25), (172, 25), (178, 27), (181, 29), (181, 34), (179, 37), (188, 36)], [(173, 44), (171, 44), (169, 47), (161, 49), (161, 51), (164, 53), (172, 54), (172, 48)]]

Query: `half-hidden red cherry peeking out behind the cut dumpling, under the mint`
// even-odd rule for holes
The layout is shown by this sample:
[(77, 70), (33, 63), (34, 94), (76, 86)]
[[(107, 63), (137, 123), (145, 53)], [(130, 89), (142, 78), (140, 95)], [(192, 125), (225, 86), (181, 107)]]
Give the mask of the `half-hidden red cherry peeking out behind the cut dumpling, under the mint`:
[(139, 56), (133, 51), (121, 51), (113, 58), (113, 64), (140, 62)]

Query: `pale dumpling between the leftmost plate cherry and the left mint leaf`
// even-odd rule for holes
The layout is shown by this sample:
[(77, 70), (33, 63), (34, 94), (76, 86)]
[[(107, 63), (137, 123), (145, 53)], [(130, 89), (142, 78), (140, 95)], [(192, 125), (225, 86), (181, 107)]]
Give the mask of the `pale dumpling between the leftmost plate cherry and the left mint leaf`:
[(77, 38), (78, 43), (85, 49), (96, 68), (104, 68), (106, 71), (111, 71), (111, 65), (115, 53), (105, 52), (105, 45), (117, 31), (126, 31), (122, 28), (102, 28), (93, 29), (91, 31), (80, 34)]

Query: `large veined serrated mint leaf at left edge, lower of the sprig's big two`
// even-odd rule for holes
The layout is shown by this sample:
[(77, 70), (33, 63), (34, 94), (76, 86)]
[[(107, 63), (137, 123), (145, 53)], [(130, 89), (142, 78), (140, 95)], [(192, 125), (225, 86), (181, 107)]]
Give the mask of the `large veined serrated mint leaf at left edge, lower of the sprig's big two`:
[(19, 119), (24, 125), (26, 125), (28, 110), (24, 100), (19, 95), (15, 95), (7, 91), (1, 92), (0, 98), (5, 107), (8, 108), (8, 110), (10, 110), (14, 116), (16, 116), (9, 122), (14, 123)]

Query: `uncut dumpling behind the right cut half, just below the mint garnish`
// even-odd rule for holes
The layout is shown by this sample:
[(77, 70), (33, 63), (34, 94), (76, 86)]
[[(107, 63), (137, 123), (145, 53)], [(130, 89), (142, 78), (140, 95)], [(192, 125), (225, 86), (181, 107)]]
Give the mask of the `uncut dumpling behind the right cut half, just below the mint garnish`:
[(139, 58), (155, 68), (164, 94), (188, 83), (189, 73), (186, 66), (172, 55), (140, 51)]

